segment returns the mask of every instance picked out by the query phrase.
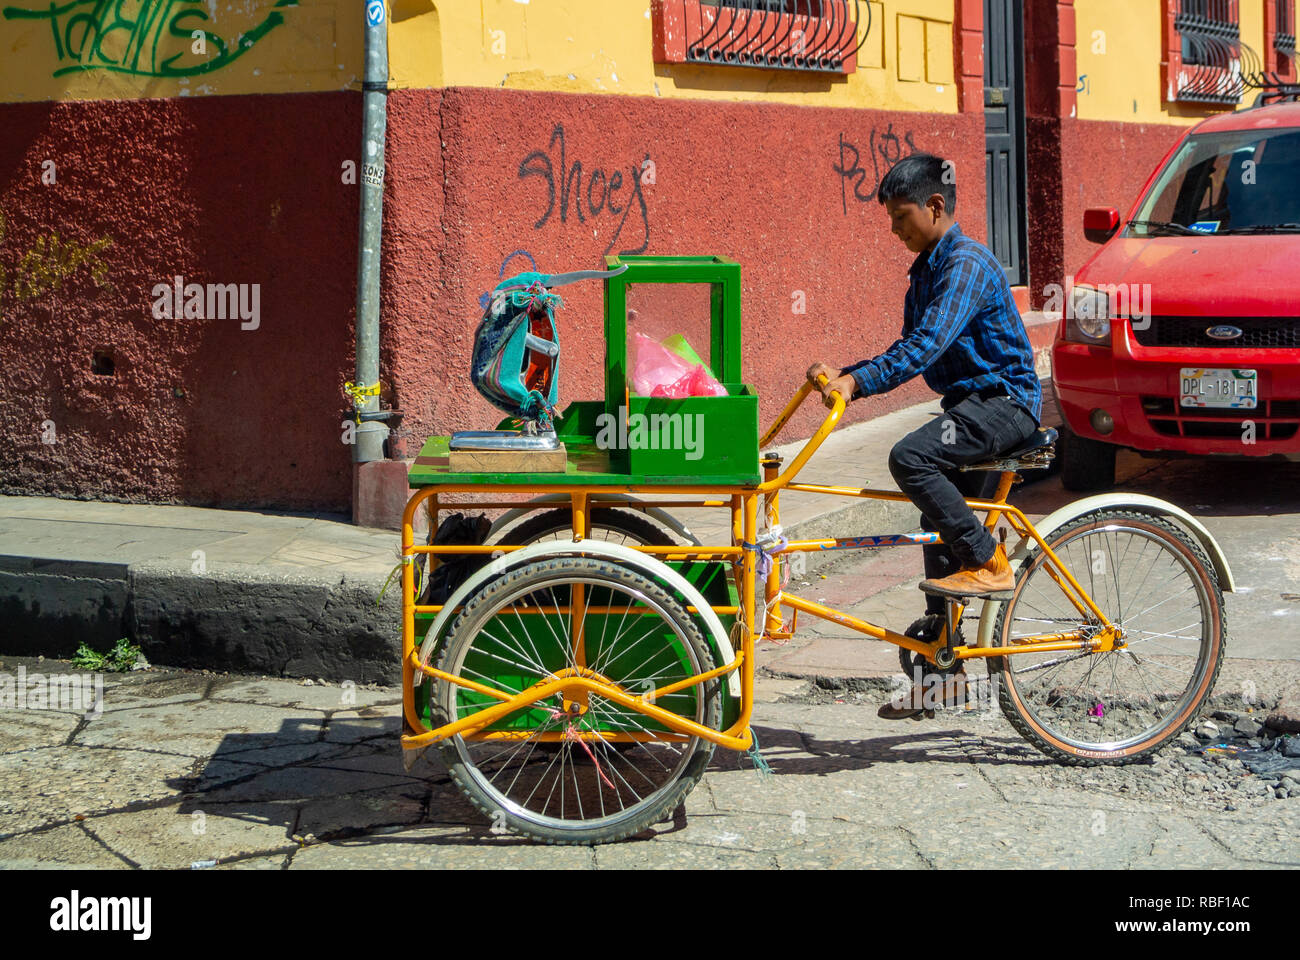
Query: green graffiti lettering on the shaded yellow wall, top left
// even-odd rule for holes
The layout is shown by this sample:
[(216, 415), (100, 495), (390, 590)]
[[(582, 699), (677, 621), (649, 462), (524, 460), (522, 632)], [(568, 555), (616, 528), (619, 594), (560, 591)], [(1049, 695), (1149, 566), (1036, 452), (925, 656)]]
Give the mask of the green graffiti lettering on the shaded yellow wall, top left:
[(251, 30), (226, 39), (204, 30), (205, 0), (52, 0), (44, 7), (5, 7), (4, 18), (49, 21), (55, 77), (110, 70), (136, 77), (194, 77), (220, 70), (285, 22), (277, 0)]

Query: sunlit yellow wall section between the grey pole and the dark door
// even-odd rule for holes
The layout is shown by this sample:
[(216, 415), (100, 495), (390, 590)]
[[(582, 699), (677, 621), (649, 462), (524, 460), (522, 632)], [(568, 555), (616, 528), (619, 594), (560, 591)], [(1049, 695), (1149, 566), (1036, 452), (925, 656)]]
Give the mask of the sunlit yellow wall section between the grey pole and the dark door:
[(655, 64), (649, 0), (391, 0), (394, 87), (504, 87), (956, 113), (953, 0), (875, 0), (846, 78)]

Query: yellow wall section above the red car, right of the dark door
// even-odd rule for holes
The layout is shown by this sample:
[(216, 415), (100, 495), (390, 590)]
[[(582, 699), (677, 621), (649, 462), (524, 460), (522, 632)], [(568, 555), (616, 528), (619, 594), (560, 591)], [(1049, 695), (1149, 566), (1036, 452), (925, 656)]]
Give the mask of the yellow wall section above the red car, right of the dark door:
[[(1242, 42), (1261, 60), (1265, 1), (1240, 1)], [(1075, 0), (1080, 120), (1191, 125), (1221, 112), (1165, 101), (1162, 8), (1160, 0)], [(1253, 100), (1247, 90), (1242, 107)]]

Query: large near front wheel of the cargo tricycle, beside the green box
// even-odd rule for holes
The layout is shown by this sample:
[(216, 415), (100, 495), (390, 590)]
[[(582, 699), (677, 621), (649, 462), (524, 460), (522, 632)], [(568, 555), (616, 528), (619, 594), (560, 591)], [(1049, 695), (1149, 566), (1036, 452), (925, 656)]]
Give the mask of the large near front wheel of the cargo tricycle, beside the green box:
[[(632, 696), (711, 670), (694, 618), (649, 572), (593, 557), (512, 570), (467, 601), (437, 666), (517, 693), (585, 665)], [(722, 683), (715, 678), (654, 704), (716, 730)], [(438, 680), (433, 725), (494, 702)], [(568, 688), (481, 731), (448, 738), (439, 749), (452, 779), (494, 829), (592, 844), (671, 816), (703, 775), (714, 744), (594, 691)]]

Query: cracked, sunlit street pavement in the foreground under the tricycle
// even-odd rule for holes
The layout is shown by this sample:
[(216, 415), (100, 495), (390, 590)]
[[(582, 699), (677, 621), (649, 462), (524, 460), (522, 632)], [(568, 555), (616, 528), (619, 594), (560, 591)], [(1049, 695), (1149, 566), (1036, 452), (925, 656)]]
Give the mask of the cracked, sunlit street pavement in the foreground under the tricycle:
[(718, 751), (671, 821), (592, 848), (494, 835), (436, 752), (404, 771), (396, 688), (110, 675), (90, 718), (0, 710), (0, 868), (1300, 866), (1300, 799), (1157, 799), (1138, 767), (1053, 764), (996, 710), (888, 722), (883, 696), (760, 675), (772, 775)]

